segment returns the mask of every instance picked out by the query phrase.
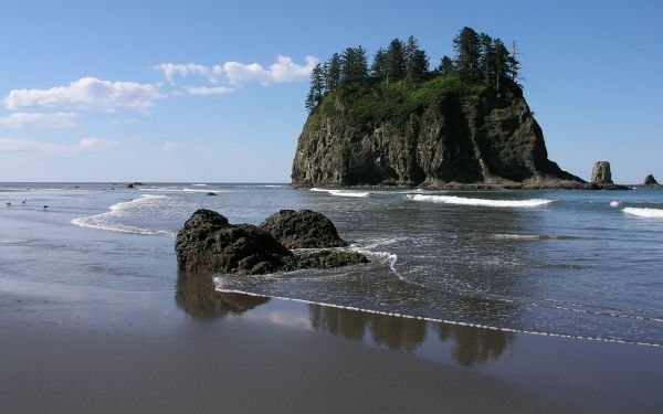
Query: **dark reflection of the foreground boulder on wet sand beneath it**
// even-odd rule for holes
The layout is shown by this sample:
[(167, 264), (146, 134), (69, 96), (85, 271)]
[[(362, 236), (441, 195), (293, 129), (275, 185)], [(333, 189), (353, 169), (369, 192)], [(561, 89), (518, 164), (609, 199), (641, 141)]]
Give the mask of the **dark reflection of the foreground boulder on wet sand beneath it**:
[(175, 293), (177, 306), (193, 319), (210, 319), (228, 314), (242, 314), (270, 298), (241, 294), (222, 294), (214, 289), (211, 274), (187, 274), (180, 272)]

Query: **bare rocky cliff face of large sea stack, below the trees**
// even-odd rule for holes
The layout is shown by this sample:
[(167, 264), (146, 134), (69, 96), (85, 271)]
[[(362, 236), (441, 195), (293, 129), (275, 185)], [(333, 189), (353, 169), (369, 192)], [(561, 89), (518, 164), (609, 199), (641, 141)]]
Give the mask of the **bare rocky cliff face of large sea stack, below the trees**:
[[(555, 187), (582, 182), (548, 160), (541, 128), (517, 86), (499, 94), (488, 88), (476, 94), (433, 91), (432, 95), (400, 117), (368, 121), (358, 118), (361, 108), (351, 100), (327, 96), (299, 136), (293, 184)], [(375, 99), (377, 107), (382, 105), (381, 97)]]

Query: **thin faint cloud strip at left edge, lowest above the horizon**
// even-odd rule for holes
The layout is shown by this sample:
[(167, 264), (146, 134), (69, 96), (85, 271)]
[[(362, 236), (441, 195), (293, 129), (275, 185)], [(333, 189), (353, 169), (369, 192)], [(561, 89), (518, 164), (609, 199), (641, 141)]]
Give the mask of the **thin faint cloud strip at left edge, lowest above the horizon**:
[(101, 138), (83, 138), (77, 142), (64, 145), (0, 137), (1, 152), (27, 152), (38, 156), (73, 156), (81, 152), (106, 150), (116, 145), (117, 141)]

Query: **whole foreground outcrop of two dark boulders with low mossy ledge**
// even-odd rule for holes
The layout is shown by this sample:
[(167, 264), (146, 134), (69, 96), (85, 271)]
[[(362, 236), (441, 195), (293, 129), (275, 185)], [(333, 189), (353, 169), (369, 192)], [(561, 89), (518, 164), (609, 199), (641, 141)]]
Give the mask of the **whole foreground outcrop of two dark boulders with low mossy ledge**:
[[(272, 215), (265, 223), (262, 226), (275, 231), (291, 246), (327, 248), (345, 245), (329, 219), (313, 211), (285, 210)], [(316, 235), (319, 241), (315, 240)], [(257, 275), (368, 262), (360, 253), (338, 250), (294, 254), (270, 232), (251, 224), (230, 224), (223, 215), (206, 209), (196, 211), (187, 220), (177, 234), (175, 251), (178, 267), (188, 273)]]

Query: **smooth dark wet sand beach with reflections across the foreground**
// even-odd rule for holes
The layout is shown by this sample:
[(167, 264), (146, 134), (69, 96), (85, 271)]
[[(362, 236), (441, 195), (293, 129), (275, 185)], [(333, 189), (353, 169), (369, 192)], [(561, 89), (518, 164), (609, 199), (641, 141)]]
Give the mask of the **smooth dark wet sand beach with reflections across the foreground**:
[(0, 279), (3, 413), (657, 412), (663, 349)]

